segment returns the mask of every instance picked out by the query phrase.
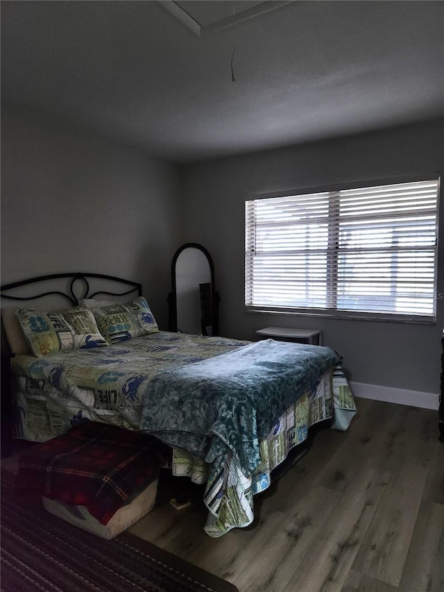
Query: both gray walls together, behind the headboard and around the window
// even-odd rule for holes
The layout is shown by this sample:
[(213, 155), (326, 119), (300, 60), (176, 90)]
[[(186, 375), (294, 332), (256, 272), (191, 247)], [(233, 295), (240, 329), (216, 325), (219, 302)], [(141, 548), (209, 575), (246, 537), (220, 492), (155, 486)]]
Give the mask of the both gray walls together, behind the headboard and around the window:
[[(170, 265), (183, 242), (209, 249), (221, 332), (255, 339), (267, 325), (321, 328), (350, 380), (438, 392), (444, 301), (434, 326), (244, 311), (249, 194), (442, 171), (443, 122), (178, 167), (92, 133), (3, 106), (1, 282), (95, 271), (142, 281), (167, 328)], [(181, 185), (182, 184), (182, 185)], [(444, 294), (444, 208), (438, 294)]]

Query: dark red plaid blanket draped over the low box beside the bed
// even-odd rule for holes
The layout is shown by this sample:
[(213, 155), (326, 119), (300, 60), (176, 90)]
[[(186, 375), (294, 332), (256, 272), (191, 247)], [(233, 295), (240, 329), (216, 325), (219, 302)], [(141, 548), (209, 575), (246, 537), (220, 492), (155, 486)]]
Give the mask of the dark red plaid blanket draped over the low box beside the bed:
[(26, 450), (15, 487), (86, 506), (107, 524), (133, 492), (158, 476), (168, 456), (169, 448), (151, 436), (88, 421)]

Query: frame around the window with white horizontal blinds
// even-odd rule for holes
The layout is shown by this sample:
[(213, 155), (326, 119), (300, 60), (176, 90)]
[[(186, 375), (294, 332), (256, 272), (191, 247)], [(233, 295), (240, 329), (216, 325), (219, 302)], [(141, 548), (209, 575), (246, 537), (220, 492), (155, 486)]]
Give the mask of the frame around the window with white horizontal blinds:
[[(346, 191), (348, 189), (365, 189), (366, 187), (377, 187), (379, 185), (395, 185), (402, 183), (418, 183), (421, 181), (436, 181), (437, 182), (437, 203), (436, 203), (436, 245), (434, 257), (434, 305), (433, 314), (400, 314), (391, 312), (360, 312), (352, 310), (337, 310), (336, 308), (307, 308), (307, 307), (275, 307), (266, 305), (248, 305), (247, 304), (247, 220), (246, 220), (246, 203), (248, 201), (267, 199), (267, 198), (282, 198), (286, 196), (298, 196), (305, 194), (316, 193), (335, 193)], [(245, 311), (250, 314), (275, 314), (275, 315), (291, 315), (291, 316), (311, 316), (328, 319), (344, 319), (344, 320), (359, 320), (359, 321), (382, 321), (392, 323), (416, 323), (422, 325), (436, 325), (436, 304), (437, 301), (444, 297), (438, 294), (438, 257), (439, 257), (439, 219), (440, 219), (440, 205), (441, 205), (441, 174), (438, 172), (427, 174), (404, 175), (389, 178), (375, 178), (369, 180), (357, 180), (350, 183), (336, 183), (332, 185), (318, 185), (311, 187), (297, 187), (296, 189), (281, 189), (275, 192), (260, 192), (248, 194), (244, 201), (244, 307)], [(329, 235), (330, 237), (330, 235)], [(337, 260), (336, 260), (337, 262)]]

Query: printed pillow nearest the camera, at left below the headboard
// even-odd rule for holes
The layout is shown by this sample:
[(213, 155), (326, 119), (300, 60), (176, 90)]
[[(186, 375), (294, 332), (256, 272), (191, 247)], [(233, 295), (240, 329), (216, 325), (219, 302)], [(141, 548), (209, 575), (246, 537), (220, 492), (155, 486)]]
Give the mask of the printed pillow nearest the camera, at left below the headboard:
[(16, 314), (31, 350), (37, 357), (60, 351), (108, 346), (97, 327), (94, 314), (86, 306), (57, 312), (19, 308)]

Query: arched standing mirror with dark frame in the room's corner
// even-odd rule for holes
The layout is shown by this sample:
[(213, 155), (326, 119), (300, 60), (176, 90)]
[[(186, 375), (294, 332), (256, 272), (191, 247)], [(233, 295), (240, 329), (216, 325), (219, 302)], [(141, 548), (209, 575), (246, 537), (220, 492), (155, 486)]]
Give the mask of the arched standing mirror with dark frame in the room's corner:
[(171, 263), (169, 330), (191, 335), (219, 335), (219, 294), (214, 264), (198, 243), (182, 245)]

